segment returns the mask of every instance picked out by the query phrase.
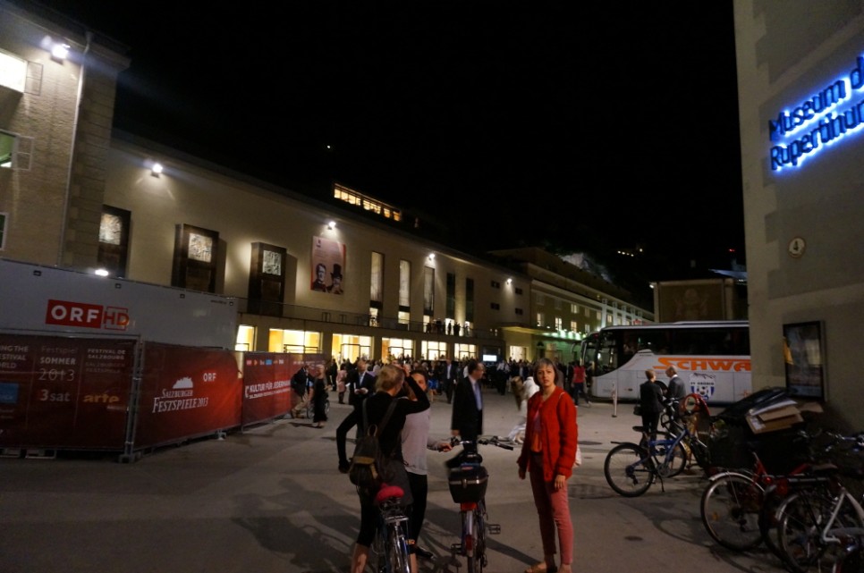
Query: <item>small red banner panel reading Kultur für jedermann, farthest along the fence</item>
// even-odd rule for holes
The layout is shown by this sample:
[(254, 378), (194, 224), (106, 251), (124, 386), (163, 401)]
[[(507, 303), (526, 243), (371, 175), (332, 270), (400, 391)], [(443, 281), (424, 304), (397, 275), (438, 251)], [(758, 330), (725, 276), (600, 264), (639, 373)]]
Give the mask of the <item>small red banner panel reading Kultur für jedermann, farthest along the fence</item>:
[(288, 354), (243, 353), (244, 425), (283, 416), (291, 411), (291, 376), (298, 367), (293, 365)]

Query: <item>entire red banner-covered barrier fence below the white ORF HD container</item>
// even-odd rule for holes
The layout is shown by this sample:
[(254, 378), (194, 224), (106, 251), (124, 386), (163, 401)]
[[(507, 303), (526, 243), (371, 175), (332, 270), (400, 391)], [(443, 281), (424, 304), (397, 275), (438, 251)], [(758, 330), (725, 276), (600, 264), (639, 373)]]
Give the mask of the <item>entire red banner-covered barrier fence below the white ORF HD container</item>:
[(301, 363), (322, 359), (0, 333), (0, 449), (130, 457), (267, 421), (291, 410), (291, 377)]

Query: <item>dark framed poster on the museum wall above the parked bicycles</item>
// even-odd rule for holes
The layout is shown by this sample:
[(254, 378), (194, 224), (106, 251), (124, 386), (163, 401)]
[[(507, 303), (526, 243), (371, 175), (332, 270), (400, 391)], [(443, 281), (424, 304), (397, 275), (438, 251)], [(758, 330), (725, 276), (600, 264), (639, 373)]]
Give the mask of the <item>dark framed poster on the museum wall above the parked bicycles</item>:
[(783, 325), (786, 389), (800, 398), (825, 400), (825, 347), (822, 323)]

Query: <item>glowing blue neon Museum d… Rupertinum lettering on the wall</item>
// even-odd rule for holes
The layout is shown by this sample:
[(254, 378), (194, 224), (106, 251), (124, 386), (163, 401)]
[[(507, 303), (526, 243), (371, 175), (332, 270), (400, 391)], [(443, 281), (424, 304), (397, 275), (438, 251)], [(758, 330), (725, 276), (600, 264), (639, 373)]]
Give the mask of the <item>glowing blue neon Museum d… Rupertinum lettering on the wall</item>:
[(770, 120), (771, 141), (783, 141), (771, 147), (772, 171), (799, 167), (807, 157), (864, 126), (864, 99), (835, 111), (852, 97), (853, 90), (860, 88), (864, 88), (864, 57), (861, 56), (849, 77), (834, 81), (792, 111), (780, 112), (776, 120)]

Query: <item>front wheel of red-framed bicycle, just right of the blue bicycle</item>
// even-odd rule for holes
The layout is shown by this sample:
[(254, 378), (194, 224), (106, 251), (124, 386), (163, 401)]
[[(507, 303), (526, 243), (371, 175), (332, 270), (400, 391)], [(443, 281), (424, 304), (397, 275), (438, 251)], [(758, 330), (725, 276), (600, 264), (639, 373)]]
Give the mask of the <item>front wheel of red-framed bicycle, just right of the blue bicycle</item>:
[(739, 473), (719, 474), (702, 492), (699, 510), (708, 535), (733, 551), (747, 551), (762, 541), (759, 510), (765, 492), (753, 478)]

